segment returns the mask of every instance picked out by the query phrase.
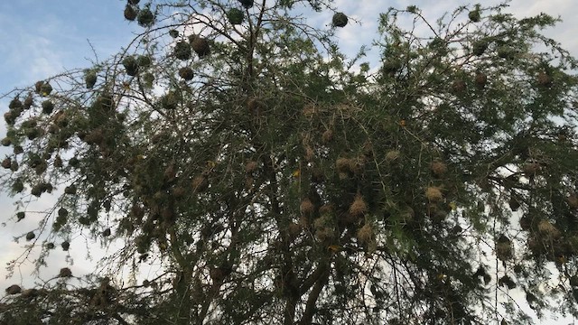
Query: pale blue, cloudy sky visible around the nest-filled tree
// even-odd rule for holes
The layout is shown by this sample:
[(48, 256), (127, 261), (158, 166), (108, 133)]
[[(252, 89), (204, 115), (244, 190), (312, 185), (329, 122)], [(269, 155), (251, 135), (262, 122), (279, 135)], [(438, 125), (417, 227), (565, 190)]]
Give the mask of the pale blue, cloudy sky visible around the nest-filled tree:
[[(231, 0), (235, 1), (235, 0)], [(144, 1), (142, 1), (144, 2)], [(484, 1), (482, 5), (496, 5), (499, 1)], [(0, 97), (13, 88), (26, 87), (39, 79), (46, 79), (56, 73), (88, 68), (89, 61), (103, 60), (120, 51), (130, 42), (135, 32), (142, 31), (136, 23), (123, 18), (126, 0), (79, 1), (79, 0), (17, 0), (0, 1)], [(343, 51), (354, 54), (361, 45), (370, 45), (377, 35), (378, 14), (388, 7), (405, 8), (417, 5), (424, 15), (432, 20), (443, 13), (452, 11), (459, 5), (472, 5), (463, 0), (337, 0), (339, 11), (350, 16), (351, 23), (337, 32)], [(562, 42), (564, 47), (578, 56), (578, 1), (575, 0), (514, 0), (509, 3), (508, 13), (518, 17), (544, 12), (560, 15), (564, 20), (545, 34)], [(331, 23), (331, 12), (311, 14), (310, 23), (327, 25)], [(0, 113), (4, 114), (10, 98), (0, 98)], [(5, 134), (4, 121), (0, 133)], [(0, 148), (0, 156), (6, 153)], [(0, 193), (0, 290), (12, 283), (29, 286), (32, 283), (31, 265), (24, 265), (14, 277), (5, 280), (5, 263), (23, 251), (24, 242), (14, 243), (13, 237), (35, 228), (38, 219), (33, 214), (22, 222), (14, 224), (8, 220), (14, 216), (13, 199)], [(51, 204), (50, 198), (34, 203), (38, 209)], [(36, 209), (36, 208), (34, 208)], [(88, 273), (92, 262), (87, 259), (85, 243), (72, 246), (70, 258), (74, 274)], [(58, 249), (48, 261), (50, 267), (43, 270), (42, 277), (50, 278), (66, 266), (66, 255)], [(105, 254), (98, 250), (98, 254)], [(69, 260), (70, 261), (70, 260)], [(1, 293), (0, 293), (1, 294)], [(543, 324), (559, 322), (545, 321)], [(564, 321), (564, 324), (568, 321)]]

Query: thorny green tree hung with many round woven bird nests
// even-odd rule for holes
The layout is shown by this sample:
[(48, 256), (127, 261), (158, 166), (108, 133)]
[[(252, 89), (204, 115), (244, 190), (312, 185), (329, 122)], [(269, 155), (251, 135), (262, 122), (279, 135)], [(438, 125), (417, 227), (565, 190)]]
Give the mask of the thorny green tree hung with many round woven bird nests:
[(2, 180), (58, 190), (22, 235), (38, 265), (89, 229), (125, 243), (107, 265), (163, 272), (64, 268), (0, 318), (527, 323), (512, 292), (576, 315), (576, 62), (539, 32), (556, 19), (503, 7), (389, 9), (372, 67), (340, 53), (331, 1), (129, 0), (125, 50), (6, 95)]

